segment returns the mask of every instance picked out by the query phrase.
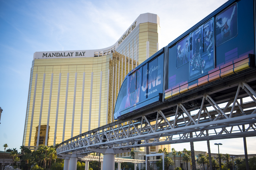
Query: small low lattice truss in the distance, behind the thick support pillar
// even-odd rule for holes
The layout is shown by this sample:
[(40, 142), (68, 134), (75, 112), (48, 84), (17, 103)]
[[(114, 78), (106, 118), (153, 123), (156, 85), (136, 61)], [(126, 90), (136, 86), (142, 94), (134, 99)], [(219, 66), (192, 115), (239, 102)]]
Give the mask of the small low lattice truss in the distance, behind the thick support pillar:
[[(99, 161), (99, 156), (88, 155), (79, 158), (82, 161)], [(103, 162), (103, 156), (100, 156), (100, 162)], [(115, 158), (115, 162), (132, 162), (132, 163), (145, 163), (145, 160), (139, 159), (125, 159), (125, 158)]]

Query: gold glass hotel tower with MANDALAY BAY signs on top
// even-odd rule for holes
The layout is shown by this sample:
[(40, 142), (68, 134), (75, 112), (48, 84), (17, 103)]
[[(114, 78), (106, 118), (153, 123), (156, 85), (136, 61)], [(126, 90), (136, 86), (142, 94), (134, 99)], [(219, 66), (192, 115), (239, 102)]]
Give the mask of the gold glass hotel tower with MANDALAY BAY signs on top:
[(34, 53), (23, 145), (56, 145), (114, 121), (124, 77), (158, 51), (159, 32), (159, 17), (146, 13), (108, 48)]

